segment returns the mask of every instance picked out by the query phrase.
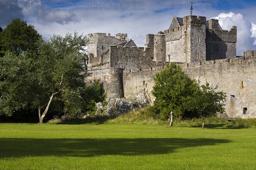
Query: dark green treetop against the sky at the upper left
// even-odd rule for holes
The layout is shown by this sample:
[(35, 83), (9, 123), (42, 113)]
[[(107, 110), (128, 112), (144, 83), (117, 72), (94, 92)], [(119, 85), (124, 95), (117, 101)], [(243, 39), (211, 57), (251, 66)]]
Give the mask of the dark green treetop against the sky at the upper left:
[(38, 51), (38, 41), (41, 35), (34, 29), (34, 26), (27, 25), (26, 21), (13, 19), (11, 23), (0, 32), (0, 55), (7, 51), (16, 55), (25, 52), (29, 57), (34, 58)]

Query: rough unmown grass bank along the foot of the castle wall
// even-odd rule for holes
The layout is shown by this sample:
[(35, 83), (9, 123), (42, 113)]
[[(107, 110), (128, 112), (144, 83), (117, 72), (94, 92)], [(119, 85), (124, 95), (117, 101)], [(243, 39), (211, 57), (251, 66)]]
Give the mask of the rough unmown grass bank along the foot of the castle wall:
[[(99, 118), (96, 118), (95, 120), (100, 122)], [(126, 124), (163, 124), (166, 126), (168, 126), (169, 124), (166, 120), (163, 120), (162, 118), (160, 118), (159, 114), (155, 113), (154, 107), (152, 106), (144, 107), (136, 111), (131, 111), (110, 120), (105, 119), (105, 121), (110, 123), (126, 123)], [(204, 118), (204, 121), (205, 121), (205, 127), (208, 127), (208, 128), (239, 129), (239, 128), (249, 128), (249, 127), (255, 128), (256, 127), (256, 118), (247, 118), (247, 119), (237, 118), (232, 121), (228, 121), (225, 118), (218, 118), (213, 116), (213, 117)], [(192, 118), (189, 120), (184, 120), (184, 119), (174, 118), (173, 124), (175, 126), (180, 126), (180, 127), (202, 127), (202, 119)]]

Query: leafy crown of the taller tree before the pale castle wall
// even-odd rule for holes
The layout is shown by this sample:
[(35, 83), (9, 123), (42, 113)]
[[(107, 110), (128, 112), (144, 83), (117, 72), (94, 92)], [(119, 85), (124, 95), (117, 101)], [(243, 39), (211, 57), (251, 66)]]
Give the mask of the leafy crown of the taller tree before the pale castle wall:
[(154, 81), (154, 105), (163, 118), (167, 118), (171, 111), (174, 116), (181, 116), (184, 112), (184, 98), (198, 90), (195, 80), (189, 78), (175, 63), (170, 63), (166, 69), (157, 73)]

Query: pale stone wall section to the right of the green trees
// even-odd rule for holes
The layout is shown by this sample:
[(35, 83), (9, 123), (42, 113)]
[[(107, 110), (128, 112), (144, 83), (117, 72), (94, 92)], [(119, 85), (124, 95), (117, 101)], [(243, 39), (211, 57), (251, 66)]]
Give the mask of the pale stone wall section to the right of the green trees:
[[(205, 84), (218, 85), (226, 92), (226, 113), (231, 118), (256, 117), (256, 58), (241, 57), (216, 61), (182, 64), (183, 69)], [(246, 109), (246, 113), (244, 113)]]

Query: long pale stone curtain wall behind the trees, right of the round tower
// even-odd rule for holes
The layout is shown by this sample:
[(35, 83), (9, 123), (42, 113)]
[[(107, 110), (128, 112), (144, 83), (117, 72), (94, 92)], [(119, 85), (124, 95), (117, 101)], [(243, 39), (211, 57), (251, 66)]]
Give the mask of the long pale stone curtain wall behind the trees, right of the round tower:
[[(150, 100), (154, 97), (151, 91), (154, 86), (154, 75), (164, 66), (153, 65), (140, 70), (124, 70), (123, 84), (125, 98), (134, 98), (145, 92)], [(256, 117), (256, 58), (233, 58), (216, 61), (203, 61), (191, 64), (180, 64), (191, 77), (205, 84), (218, 85), (219, 91), (226, 92), (226, 114), (230, 118)], [(244, 110), (246, 109), (246, 113)]]

